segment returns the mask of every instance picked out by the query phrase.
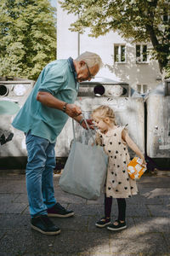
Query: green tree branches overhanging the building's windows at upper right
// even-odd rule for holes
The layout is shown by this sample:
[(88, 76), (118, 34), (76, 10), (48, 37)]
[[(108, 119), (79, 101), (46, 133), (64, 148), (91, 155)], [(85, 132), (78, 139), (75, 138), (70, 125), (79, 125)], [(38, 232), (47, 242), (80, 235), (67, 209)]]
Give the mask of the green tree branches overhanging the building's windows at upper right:
[[(71, 31), (98, 37), (117, 31), (133, 42), (151, 42), (151, 54), (159, 62), (161, 73), (169, 67), (169, 0), (62, 0), (61, 6), (78, 16)], [(169, 16), (168, 16), (169, 15)]]

